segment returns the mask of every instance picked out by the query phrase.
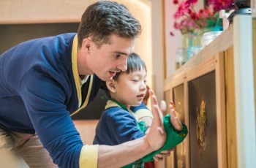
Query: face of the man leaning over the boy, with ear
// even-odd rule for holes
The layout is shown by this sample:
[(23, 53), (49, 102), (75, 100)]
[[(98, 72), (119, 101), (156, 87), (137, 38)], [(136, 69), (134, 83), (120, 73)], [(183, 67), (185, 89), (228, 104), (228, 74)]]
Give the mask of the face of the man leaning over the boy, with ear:
[(99, 48), (91, 41), (82, 74), (96, 74), (106, 81), (112, 79), (116, 72), (126, 71), (127, 58), (132, 53), (134, 43), (134, 39), (124, 39), (117, 35), (111, 35), (109, 44), (103, 44)]

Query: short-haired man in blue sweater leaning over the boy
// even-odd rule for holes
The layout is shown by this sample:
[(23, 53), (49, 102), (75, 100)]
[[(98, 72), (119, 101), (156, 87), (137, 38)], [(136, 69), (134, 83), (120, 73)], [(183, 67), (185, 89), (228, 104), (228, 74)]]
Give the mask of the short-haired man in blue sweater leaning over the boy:
[[(127, 69), (138, 34), (140, 23), (126, 7), (98, 1), (83, 13), (78, 35), (34, 39), (3, 53), (1, 167), (121, 167), (161, 148), (166, 134), (152, 92), (151, 131), (138, 140), (83, 145), (70, 118), (93, 101), (102, 80)], [(146, 114), (145, 108), (134, 111)]]

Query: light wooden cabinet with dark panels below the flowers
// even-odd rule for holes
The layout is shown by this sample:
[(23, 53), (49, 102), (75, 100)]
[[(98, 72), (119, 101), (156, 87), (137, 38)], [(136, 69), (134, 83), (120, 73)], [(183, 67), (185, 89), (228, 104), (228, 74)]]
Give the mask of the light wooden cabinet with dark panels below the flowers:
[(236, 168), (233, 28), (165, 80), (164, 91), (189, 129), (166, 167)]

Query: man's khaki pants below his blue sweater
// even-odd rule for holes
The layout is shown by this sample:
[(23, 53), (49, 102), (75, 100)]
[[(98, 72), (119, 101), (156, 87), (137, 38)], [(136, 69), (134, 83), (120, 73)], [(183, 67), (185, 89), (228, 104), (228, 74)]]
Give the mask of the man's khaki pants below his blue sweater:
[(58, 167), (37, 134), (22, 134), (0, 127), (0, 167)]

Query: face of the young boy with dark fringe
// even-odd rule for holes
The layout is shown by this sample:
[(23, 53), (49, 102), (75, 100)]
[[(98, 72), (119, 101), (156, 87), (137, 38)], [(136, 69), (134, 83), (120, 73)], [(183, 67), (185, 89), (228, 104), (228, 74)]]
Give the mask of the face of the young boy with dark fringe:
[(116, 93), (113, 93), (114, 99), (122, 104), (129, 106), (140, 105), (146, 94), (146, 70), (122, 73), (117, 81), (114, 81)]

